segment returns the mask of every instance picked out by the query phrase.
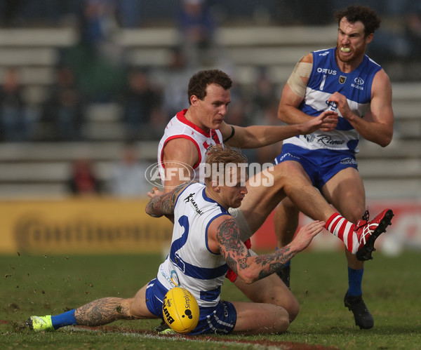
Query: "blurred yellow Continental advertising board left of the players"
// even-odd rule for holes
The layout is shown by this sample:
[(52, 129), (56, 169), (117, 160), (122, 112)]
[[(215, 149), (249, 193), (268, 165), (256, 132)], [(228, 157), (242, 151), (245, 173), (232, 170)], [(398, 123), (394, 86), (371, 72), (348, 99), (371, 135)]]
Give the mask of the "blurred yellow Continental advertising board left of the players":
[(0, 254), (161, 253), (173, 224), (147, 200), (1, 201)]

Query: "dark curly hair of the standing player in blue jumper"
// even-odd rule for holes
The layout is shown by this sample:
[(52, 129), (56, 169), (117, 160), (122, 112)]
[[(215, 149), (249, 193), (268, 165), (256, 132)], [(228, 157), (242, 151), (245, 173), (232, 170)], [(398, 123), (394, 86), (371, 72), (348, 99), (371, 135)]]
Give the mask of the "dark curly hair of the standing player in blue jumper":
[(338, 25), (340, 24), (340, 20), (344, 17), (346, 17), (350, 23), (362, 22), (365, 36), (368, 36), (368, 34), (374, 33), (375, 30), (379, 29), (380, 23), (382, 22), (374, 10), (368, 6), (361, 5), (348, 6), (345, 10), (335, 12), (335, 19), (338, 20)]

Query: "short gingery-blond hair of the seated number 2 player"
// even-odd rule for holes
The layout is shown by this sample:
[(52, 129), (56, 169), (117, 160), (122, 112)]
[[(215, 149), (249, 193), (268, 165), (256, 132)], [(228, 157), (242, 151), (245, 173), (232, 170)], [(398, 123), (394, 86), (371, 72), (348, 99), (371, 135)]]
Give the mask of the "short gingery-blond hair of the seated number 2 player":
[[(213, 178), (213, 170), (222, 170), (220, 167), (224, 167), (225, 173), (225, 166), (229, 163), (240, 164), (240, 163), (247, 163), (247, 157), (241, 153), (240, 149), (232, 148), (227, 145), (222, 146), (222, 144), (216, 144), (210, 146), (206, 151), (206, 164), (210, 165), (210, 173), (206, 176), (206, 183), (208, 183)], [(212, 165), (218, 164), (217, 168), (214, 168)]]

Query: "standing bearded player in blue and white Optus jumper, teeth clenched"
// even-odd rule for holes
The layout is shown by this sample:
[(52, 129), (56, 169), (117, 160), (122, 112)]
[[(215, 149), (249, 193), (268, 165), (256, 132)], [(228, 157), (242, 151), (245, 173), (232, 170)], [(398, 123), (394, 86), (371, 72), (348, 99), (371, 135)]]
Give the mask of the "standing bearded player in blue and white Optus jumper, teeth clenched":
[[(314, 185), (347, 220), (356, 222), (366, 210), (363, 182), (355, 159), (359, 135), (385, 147), (392, 140), (394, 114), (392, 87), (385, 71), (370, 60), (366, 46), (380, 27), (377, 13), (366, 6), (337, 11), (335, 48), (305, 55), (283, 88), (279, 119), (303, 123), (330, 110), (338, 112), (335, 130), (315, 130), (310, 135), (283, 142), (275, 163), (288, 163)], [(299, 210), (290, 200), (276, 209), (278, 246), (288, 244), (298, 226)], [(372, 328), (373, 316), (362, 299), (363, 262), (345, 250), (349, 288), (345, 307), (360, 328)], [(289, 285), (289, 265), (281, 278)]]

